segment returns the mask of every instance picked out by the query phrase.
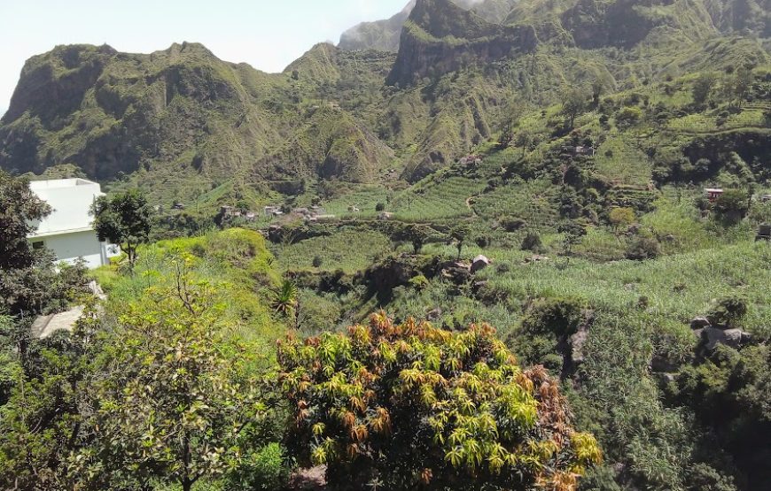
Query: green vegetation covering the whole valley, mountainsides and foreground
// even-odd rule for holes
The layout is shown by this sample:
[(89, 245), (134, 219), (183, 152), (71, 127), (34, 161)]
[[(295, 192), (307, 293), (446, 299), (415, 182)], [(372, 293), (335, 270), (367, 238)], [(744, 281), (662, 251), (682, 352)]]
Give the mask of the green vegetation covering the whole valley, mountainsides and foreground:
[(0, 166), (159, 212), (35, 340), (84, 272), (28, 250), (45, 210), (0, 174), (0, 487), (771, 487), (771, 4), (462, 6), (278, 74), (196, 44), (27, 63)]

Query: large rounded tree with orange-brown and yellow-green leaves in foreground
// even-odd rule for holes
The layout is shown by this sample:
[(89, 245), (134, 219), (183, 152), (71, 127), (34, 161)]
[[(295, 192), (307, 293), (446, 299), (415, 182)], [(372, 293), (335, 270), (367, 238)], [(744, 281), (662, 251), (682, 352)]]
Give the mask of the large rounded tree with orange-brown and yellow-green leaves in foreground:
[(290, 437), (331, 485), (574, 489), (599, 462), (558, 384), (523, 372), (490, 326), (450, 332), (384, 312), (347, 334), (279, 344)]

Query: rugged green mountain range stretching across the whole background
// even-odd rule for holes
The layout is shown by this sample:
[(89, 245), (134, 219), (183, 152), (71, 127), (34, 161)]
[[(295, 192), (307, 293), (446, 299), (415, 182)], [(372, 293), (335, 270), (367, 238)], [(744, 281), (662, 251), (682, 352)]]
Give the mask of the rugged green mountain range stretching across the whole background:
[(75, 165), (148, 184), (162, 201), (229, 182), (378, 184), (394, 170), (416, 182), (495, 138), (507, 112), (560, 104), (566, 87), (612, 93), (762, 65), (765, 6), (416, 0), (393, 21), (396, 52), (322, 43), (274, 74), (197, 43), (152, 54), (59, 46), (21, 73), (0, 119), (0, 166)]

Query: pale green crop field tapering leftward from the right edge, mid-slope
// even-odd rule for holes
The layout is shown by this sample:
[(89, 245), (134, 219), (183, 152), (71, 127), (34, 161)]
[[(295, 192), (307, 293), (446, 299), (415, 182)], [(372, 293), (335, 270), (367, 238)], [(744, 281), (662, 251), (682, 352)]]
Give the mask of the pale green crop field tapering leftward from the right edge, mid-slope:
[(512, 265), (509, 273), (487, 270), (483, 277), (517, 297), (570, 296), (618, 313), (639, 309), (644, 303), (650, 314), (678, 323), (704, 315), (717, 298), (739, 295), (749, 305), (744, 326), (767, 337), (771, 334), (769, 264), (771, 247), (766, 242), (743, 242), (645, 262), (596, 264), (563, 259)]

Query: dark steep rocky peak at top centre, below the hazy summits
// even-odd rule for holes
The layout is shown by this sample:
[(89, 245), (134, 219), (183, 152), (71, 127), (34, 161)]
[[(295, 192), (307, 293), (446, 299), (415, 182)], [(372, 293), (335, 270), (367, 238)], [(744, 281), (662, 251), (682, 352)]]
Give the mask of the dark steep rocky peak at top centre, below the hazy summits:
[(513, 57), (535, 45), (532, 27), (493, 24), (449, 0), (417, 0), (386, 83), (411, 85), (463, 66)]

